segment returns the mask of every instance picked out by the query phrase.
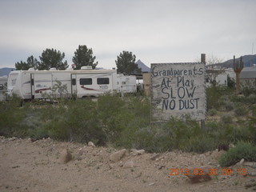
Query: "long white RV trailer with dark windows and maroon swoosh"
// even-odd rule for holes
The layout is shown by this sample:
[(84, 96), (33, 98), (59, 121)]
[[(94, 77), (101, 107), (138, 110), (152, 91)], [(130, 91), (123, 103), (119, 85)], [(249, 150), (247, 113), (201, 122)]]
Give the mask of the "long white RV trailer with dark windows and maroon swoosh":
[(22, 99), (98, 97), (113, 93), (116, 82), (116, 70), (14, 70), (7, 91)]

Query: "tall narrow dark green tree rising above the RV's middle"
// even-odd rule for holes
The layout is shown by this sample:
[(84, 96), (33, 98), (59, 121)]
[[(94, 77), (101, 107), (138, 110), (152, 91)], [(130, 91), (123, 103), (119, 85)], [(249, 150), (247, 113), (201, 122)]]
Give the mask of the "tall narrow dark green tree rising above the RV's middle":
[(93, 56), (93, 50), (88, 49), (87, 46), (78, 46), (78, 49), (74, 52), (72, 61), (75, 64), (75, 70), (80, 70), (82, 66), (92, 66), (93, 69), (98, 65), (98, 62), (94, 62), (95, 56)]

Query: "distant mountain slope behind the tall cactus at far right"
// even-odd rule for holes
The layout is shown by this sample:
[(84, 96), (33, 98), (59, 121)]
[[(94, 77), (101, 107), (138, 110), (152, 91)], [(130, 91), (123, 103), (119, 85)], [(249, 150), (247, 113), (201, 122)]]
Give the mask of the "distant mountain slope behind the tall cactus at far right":
[[(240, 61), (240, 57), (235, 58), (236, 61)], [(242, 61), (243, 61), (243, 66), (254, 66), (256, 65), (256, 54), (249, 54), (249, 55), (244, 55), (242, 56)], [(227, 60), (226, 62), (214, 64), (213, 66), (222, 66), (225, 68), (233, 68), (233, 58), (230, 60)]]

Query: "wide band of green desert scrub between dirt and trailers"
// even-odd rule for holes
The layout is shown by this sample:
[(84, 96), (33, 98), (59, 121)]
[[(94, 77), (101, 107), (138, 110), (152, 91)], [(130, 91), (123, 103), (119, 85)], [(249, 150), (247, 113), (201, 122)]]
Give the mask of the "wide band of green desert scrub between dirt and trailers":
[[(14, 97), (0, 102), (0, 134), (34, 140), (50, 137), (59, 141), (92, 141), (101, 146), (148, 152), (204, 153), (220, 144), (238, 142), (255, 146), (255, 90), (246, 89), (246, 94), (238, 95), (234, 89), (211, 86), (207, 88), (207, 108), (206, 127), (202, 129), (190, 117), (150, 124), (150, 98), (145, 96), (120, 98), (106, 94), (96, 102), (61, 99), (57, 104), (25, 102), (22, 107), (19, 98)], [(234, 160), (238, 153), (232, 151)], [(227, 165), (231, 160), (226, 157), (222, 161), (222, 165)]]

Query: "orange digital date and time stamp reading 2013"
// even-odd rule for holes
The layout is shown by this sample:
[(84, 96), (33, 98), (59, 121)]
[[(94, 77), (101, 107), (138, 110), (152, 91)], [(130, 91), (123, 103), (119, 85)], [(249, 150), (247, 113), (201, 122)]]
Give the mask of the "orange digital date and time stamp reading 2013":
[(222, 169), (170, 169), (170, 175), (203, 175), (203, 174), (209, 174), (209, 175), (246, 175), (246, 169), (230, 169), (230, 168), (222, 168)]

